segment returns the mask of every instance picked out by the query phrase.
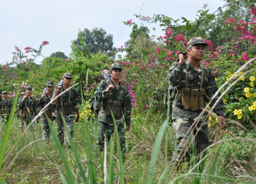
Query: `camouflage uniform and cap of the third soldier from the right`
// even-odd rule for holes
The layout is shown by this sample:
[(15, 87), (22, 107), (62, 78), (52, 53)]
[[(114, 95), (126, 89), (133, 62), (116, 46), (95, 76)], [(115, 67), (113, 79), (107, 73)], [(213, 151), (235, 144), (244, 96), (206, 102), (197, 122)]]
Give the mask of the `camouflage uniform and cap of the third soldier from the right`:
[[(70, 73), (66, 73), (63, 78), (72, 78), (72, 75)], [(53, 96), (56, 93), (55, 89), (53, 91)], [(63, 86), (61, 88), (61, 91), (66, 90)], [(69, 103), (69, 104), (68, 104)], [(54, 103), (56, 104), (56, 110), (54, 111), (54, 117), (56, 117), (56, 124), (57, 124), (57, 133), (58, 138), (61, 144), (64, 143), (64, 131), (63, 128), (65, 127), (63, 124), (62, 116), (65, 114), (64, 111), (68, 110), (68, 113), (64, 116), (65, 122), (67, 123), (68, 131), (70, 135), (73, 137), (73, 127), (74, 127), (74, 119), (75, 119), (75, 110), (80, 107), (78, 104), (78, 93), (75, 88), (71, 88), (69, 91), (66, 91), (63, 95), (58, 97), (57, 101)], [(66, 109), (66, 110), (65, 110)]]

